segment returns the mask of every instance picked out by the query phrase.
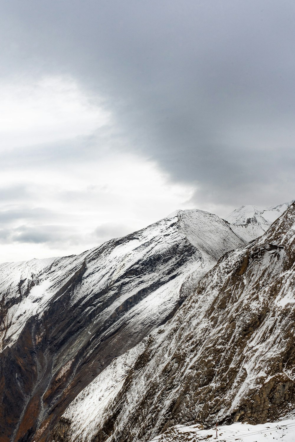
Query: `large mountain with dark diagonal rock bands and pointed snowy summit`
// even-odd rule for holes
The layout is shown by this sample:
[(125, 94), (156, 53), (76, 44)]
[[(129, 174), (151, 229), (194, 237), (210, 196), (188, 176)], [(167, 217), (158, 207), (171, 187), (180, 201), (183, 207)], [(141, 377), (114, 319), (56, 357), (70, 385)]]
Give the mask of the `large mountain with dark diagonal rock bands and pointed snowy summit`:
[(81, 255), (1, 264), (1, 442), (46, 440), (73, 398), (242, 243), (216, 215), (178, 211)]

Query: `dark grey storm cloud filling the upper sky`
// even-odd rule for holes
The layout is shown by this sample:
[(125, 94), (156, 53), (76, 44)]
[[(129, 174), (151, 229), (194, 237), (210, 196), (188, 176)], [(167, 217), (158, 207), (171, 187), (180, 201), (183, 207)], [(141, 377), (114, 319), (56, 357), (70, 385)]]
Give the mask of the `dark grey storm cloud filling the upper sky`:
[(10, 0), (1, 8), (2, 75), (69, 74), (93, 100), (103, 95), (128, 149), (197, 184), (195, 202), (294, 198), (294, 2)]

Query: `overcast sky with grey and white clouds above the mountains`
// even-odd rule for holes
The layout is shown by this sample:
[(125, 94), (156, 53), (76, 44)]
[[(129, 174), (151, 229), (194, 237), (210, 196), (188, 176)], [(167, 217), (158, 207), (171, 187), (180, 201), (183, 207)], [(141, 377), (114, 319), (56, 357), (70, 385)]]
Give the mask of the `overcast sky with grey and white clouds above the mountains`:
[(0, 261), (295, 198), (294, 0), (3, 0)]

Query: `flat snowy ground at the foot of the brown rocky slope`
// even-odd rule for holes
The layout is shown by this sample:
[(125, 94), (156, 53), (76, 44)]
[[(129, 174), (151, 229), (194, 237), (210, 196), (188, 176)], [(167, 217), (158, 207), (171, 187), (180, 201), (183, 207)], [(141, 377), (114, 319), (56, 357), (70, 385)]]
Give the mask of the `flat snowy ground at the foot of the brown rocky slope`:
[(176, 425), (169, 428), (164, 434), (153, 438), (157, 442), (176, 441), (240, 441), (240, 442), (295, 442), (295, 420), (284, 420), (262, 425), (249, 425), (247, 423), (234, 423), (222, 425), (210, 430), (200, 430), (199, 425), (190, 427)]

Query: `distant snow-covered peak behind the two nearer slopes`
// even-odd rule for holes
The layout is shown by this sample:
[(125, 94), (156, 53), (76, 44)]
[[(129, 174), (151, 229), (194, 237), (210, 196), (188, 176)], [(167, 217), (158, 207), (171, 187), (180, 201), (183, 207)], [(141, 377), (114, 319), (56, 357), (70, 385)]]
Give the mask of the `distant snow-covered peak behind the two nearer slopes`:
[(257, 207), (241, 206), (225, 218), (231, 229), (243, 240), (249, 242), (264, 234), (270, 225), (294, 202), (285, 202), (279, 206)]

